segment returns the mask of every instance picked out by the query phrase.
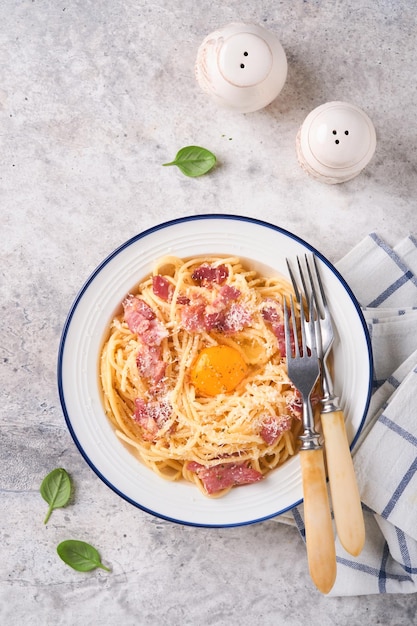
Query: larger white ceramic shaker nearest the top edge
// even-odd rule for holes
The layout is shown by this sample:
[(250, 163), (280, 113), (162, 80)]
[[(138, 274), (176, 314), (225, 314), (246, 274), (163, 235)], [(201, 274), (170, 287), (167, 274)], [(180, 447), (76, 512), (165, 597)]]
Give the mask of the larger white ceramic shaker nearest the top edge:
[(277, 37), (257, 24), (232, 23), (201, 43), (195, 73), (220, 106), (250, 113), (270, 104), (287, 78), (287, 57)]

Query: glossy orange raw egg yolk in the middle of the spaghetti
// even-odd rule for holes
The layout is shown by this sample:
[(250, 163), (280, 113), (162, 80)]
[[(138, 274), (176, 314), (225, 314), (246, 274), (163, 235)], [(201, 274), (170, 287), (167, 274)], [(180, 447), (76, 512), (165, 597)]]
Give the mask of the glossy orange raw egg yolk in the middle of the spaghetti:
[(191, 369), (191, 382), (200, 394), (215, 396), (233, 391), (248, 370), (240, 352), (230, 346), (210, 346), (198, 355)]

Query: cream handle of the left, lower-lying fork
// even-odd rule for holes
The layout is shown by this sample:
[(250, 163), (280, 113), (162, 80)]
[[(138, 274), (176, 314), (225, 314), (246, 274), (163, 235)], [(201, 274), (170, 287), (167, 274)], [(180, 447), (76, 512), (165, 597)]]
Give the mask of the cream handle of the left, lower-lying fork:
[(336, 579), (336, 549), (323, 450), (301, 450), (300, 461), (308, 567), (317, 589), (329, 593)]

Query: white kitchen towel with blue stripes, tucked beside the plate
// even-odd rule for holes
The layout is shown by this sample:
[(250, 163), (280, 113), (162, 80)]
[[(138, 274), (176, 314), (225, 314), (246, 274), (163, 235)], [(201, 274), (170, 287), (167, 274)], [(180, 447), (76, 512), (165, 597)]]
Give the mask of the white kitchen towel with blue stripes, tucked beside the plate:
[[(417, 239), (391, 248), (372, 233), (336, 264), (372, 342), (373, 394), (353, 450), (366, 542), (352, 557), (336, 538), (330, 596), (417, 591)], [(294, 509), (304, 537), (302, 506)]]

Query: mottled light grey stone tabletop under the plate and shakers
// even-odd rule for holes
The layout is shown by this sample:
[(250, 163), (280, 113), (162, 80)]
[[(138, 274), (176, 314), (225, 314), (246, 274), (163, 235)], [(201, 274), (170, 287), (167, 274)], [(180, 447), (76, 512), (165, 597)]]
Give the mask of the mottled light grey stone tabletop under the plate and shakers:
[[(116, 246), (172, 217), (237, 213), (336, 261), (371, 231), (417, 230), (415, 3), (4, 0), (0, 3), (0, 621), (21, 625), (413, 623), (415, 596), (328, 599), (292, 527), (182, 527), (132, 507), (89, 469), (56, 386), (62, 326)], [(270, 28), (287, 83), (266, 109), (218, 109), (194, 80), (200, 42), (232, 21)], [(306, 115), (363, 108), (377, 151), (327, 186), (297, 164)], [(216, 153), (206, 177), (161, 164), (187, 144)], [(74, 502), (45, 527), (39, 485), (64, 466)], [(68, 537), (113, 572), (57, 557)]]

